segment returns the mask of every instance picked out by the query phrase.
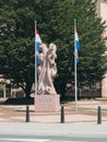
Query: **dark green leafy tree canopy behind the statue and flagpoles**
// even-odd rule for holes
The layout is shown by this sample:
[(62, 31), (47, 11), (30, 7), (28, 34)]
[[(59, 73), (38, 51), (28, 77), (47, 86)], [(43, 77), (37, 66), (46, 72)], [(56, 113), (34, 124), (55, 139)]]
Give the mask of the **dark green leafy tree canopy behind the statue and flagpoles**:
[(55, 84), (63, 94), (74, 81), (74, 19), (81, 43), (80, 82), (100, 81), (105, 72), (105, 23), (91, 0), (1, 0), (0, 73), (12, 79), (29, 96), (35, 81), (35, 21), (43, 43), (57, 45)]

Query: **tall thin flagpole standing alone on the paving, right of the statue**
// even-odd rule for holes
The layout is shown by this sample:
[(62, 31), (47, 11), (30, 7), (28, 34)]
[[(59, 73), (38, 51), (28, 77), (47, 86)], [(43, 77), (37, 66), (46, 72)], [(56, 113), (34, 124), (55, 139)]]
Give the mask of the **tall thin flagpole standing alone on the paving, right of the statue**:
[[(75, 27), (76, 27), (76, 20), (74, 19), (74, 34), (75, 34)], [(74, 35), (75, 37), (75, 35)], [(78, 111), (78, 79), (76, 79), (76, 45), (75, 45), (75, 38), (74, 38), (74, 96), (75, 96), (75, 111)]]

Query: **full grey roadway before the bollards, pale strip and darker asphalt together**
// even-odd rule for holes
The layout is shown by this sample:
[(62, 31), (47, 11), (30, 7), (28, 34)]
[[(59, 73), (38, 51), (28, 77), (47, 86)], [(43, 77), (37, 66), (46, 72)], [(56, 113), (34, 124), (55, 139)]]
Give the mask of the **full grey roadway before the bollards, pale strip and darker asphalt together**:
[(107, 125), (0, 122), (0, 142), (107, 142)]

